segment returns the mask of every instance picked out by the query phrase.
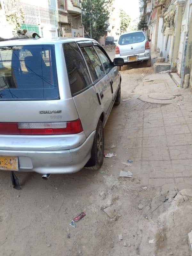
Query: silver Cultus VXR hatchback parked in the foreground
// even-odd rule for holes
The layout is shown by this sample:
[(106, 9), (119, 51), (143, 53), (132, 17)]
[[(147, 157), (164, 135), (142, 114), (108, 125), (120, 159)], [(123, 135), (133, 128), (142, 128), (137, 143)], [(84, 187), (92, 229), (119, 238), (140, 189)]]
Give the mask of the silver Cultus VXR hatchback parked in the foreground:
[(0, 42), (0, 170), (100, 168), (123, 62), (92, 39)]

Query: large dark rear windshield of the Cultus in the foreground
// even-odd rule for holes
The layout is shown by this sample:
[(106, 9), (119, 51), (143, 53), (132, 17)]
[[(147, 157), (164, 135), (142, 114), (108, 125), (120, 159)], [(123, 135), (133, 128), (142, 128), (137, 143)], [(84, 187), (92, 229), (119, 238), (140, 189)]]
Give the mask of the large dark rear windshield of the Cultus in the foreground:
[(0, 100), (59, 98), (54, 45), (0, 47)]

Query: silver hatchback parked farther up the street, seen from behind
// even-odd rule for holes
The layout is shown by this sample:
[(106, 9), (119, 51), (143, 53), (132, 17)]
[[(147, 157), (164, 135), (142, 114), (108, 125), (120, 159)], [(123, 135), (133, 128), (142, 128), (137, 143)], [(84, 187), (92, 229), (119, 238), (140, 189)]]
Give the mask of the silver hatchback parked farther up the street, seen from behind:
[(151, 66), (151, 52), (147, 36), (142, 30), (122, 34), (115, 48), (115, 56), (124, 59), (124, 63), (146, 61)]

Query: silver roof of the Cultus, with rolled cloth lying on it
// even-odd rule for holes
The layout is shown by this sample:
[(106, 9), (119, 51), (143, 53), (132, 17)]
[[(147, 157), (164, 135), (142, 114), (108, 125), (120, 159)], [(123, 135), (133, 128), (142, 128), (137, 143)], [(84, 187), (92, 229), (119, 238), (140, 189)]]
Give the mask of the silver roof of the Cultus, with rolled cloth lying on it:
[(97, 42), (92, 38), (84, 37), (53, 37), (53, 38), (24, 38), (24, 39), (13, 39), (0, 41), (0, 46), (9, 45), (36, 45), (36, 44), (62, 44), (67, 42), (78, 42), (78, 41), (92, 41)]

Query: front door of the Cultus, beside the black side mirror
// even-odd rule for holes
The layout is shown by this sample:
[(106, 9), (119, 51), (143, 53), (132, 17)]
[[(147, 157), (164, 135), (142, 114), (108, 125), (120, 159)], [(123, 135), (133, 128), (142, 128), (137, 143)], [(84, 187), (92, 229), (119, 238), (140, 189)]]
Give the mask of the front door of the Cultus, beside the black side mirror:
[(113, 94), (113, 100), (116, 98), (116, 93), (119, 88), (120, 84), (120, 74), (116, 67), (113, 66), (112, 61), (108, 57), (108, 54), (104, 51), (104, 49), (100, 45), (94, 45), (99, 57), (100, 61), (102, 62), (105, 72), (108, 75), (110, 86), (111, 86), (111, 92)]

